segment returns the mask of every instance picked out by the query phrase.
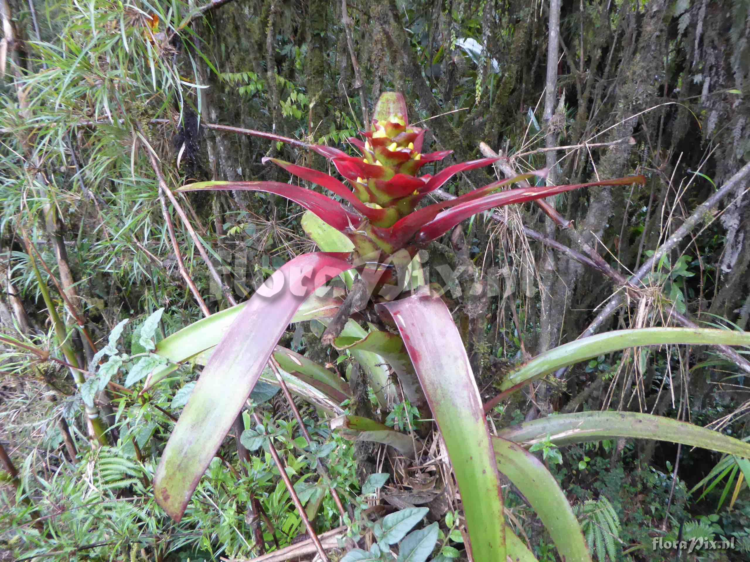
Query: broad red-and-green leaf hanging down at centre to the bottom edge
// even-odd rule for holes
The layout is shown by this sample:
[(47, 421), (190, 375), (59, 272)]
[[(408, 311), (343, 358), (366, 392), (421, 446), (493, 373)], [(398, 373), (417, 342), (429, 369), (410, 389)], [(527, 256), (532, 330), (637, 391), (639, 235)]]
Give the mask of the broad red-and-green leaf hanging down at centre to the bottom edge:
[(502, 490), (469, 357), (450, 310), (418, 293), (381, 305), (404, 339), (453, 465), (475, 561), (505, 561)]

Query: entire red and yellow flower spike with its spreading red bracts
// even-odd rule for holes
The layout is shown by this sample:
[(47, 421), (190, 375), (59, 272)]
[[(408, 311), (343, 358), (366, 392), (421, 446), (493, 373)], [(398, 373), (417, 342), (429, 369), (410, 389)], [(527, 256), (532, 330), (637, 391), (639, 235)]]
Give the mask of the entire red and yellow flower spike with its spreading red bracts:
[[(545, 175), (545, 172), (532, 172), (493, 182), (450, 202), (434, 203), (416, 211), (417, 205), (425, 196), (446, 184), (456, 174), (488, 166), (498, 160), (481, 158), (447, 166), (436, 175), (417, 175), (425, 164), (443, 160), (452, 154), (449, 150), (422, 154), (425, 132), (425, 129), (409, 124), (407, 103), (404, 96), (396, 92), (386, 92), (380, 96), (375, 106), (371, 130), (363, 133), (365, 141), (350, 139), (351, 144), (361, 151), (361, 157), (349, 156), (337, 148), (309, 145), (284, 136), (254, 132), (266, 139), (309, 148), (331, 160), (338, 173), (349, 182), (351, 189), (325, 172), (275, 158), (264, 159), (264, 162), (271, 160), (293, 175), (326, 188), (344, 199), (353, 210), (319, 193), (308, 190), (309, 195), (305, 196), (301, 193), (305, 188), (274, 181), (211, 181), (187, 185), (181, 190), (231, 189), (276, 193), (299, 203), (347, 235), (359, 256), (368, 256), (373, 252), (388, 256), (402, 248), (434, 240), (461, 220), (493, 207), (541, 199), (579, 187), (635, 182), (643, 184), (645, 181), (643, 176), (636, 176), (592, 184), (535, 187), (498, 193), (505, 185), (529, 179), (532, 175)], [(285, 185), (286, 187), (282, 187)], [(328, 201), (323, 202), (321, 198)]]

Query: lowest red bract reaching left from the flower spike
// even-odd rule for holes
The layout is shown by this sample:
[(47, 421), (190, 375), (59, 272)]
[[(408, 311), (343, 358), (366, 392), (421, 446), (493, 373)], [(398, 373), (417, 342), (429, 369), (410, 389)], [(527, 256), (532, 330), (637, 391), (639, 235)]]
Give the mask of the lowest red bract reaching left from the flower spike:
[(182, 192), (200, 190), (241, 190), (274, 193), (302, 205), (302, 207), (340, 231), (348, 229), (350, 225), (357, 226), (362, 221), (362, 217), (359, 217), (358, 214), (347, 211), (341, 206), (341, 203), (326, 197), (322, 193), (306, 190), (304, 187), (296, 185), (282, 184), (281, 181), (201, 181), (197, 184), (184, 185), (178, 189)]

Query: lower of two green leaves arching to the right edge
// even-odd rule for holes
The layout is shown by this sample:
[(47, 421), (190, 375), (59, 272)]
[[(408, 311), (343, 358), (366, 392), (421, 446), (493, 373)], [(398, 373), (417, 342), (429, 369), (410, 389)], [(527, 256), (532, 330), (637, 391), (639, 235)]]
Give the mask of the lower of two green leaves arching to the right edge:
[(739, 439), (668, 417), (634, 412), (586, 411), (559, 414), (510, 426), (500, 432), (499, 437), (530, 445), (544, 441), (547, 434), (550, 434), (550, 441), (557, 446), (631, 437), (672, 441), (689, 447), (703, 447), (750, 458), (750, 444)]

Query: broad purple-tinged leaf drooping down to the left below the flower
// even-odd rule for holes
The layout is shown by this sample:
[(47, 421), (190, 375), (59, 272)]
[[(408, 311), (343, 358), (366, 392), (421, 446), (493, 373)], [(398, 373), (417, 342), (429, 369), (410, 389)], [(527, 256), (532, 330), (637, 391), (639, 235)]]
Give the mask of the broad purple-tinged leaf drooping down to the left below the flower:
[(154, 497), (176, 522), (294, 313), (316, 288), (352, 268), (346, 257), (303, 254), (283, 265), (271, 283), (256, 291), (217, 345), (154, 477)]

